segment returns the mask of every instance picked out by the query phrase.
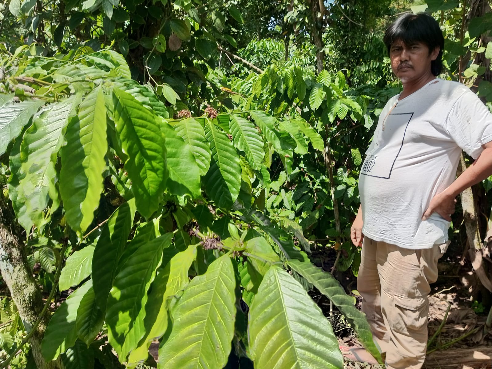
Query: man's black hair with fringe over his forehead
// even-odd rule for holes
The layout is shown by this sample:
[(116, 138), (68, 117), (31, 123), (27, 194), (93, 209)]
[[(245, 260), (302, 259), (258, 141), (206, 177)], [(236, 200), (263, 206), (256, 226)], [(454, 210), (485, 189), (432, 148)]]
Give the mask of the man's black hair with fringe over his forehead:
[(390, 51), (393, 42), (401, 40), (406, 45), (422, 42), (429, 47), (429, 54), (439, 47), (436, 60), (431, 63), (431, 72), (434, 76), (442, 70), (442, 51), (444, 49), (444, 37), (439, 23), (426, 13), (403, 14), (393, 22), (384, 33), (383, 41)]

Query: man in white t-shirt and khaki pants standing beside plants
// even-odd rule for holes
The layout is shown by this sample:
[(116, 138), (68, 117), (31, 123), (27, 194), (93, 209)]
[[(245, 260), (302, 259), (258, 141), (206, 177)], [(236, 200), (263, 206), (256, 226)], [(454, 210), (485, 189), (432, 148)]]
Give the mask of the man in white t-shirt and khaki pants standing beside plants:
[[(492, 116), (465, 86), (436, 79), (444, 38), (430, 15), (401, 16), (384, 42), (403, 91), (366, 152), (351, 239), (362, 246), (357, 287), (387, 368), (418, 369), (455, 197), (492, 175)], [(462, 150), (475, 162), (455, 180)]]

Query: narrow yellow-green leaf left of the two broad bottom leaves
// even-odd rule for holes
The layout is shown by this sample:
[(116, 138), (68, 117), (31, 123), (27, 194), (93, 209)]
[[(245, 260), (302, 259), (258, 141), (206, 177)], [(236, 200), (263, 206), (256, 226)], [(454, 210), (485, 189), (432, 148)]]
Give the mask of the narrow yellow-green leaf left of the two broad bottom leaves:
[(147, 359), (152, 341), (162, 337), (166, 332), (170, 302), (189, 283), (188, 270), (195, 258), (196, 245), (190, 245), (186, 250), (174, 255), (169, 262), (162, 261), (165, 268), (160, 268), (160, 272), (155, 276), (145, 305), (146, 335), (140, 341), (139, 347), (130, 353), (128, 364)]

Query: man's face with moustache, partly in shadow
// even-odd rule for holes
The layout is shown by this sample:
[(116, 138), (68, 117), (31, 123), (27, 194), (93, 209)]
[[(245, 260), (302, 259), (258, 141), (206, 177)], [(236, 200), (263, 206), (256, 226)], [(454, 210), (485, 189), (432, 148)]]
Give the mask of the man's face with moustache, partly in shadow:
[(429, 53), (425, 43), (396, 40), (390, 48), (391, 68), (402, 83), (412, 82), (431, 73), (431, 62), (438, 54), (439, 48)]

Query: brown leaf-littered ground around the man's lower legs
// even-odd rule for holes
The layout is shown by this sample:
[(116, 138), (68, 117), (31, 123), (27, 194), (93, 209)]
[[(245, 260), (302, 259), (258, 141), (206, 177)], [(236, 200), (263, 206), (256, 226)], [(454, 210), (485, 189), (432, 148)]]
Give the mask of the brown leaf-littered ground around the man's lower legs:
[[(492, 331), (484, 332), (483, 328), (489, 310), (484, 305), (490, 302), (486, 303), (482, 299), (480, 283), (457, 247), (460, 246), (450, 245), (439, 260), (439, 277), (431, 285), (428, 323), (430, 341), (443, 325), (428, 349), (424, 369), (492, 368)], [(318, 249), (311, 258), (315, 264), (330, 271), (336, 259), (336, 251)], [(356, 290), (356, 278), (350, 270), (335, 272), (335, 277), (346, 290)], [(361, 347), (353, 329), (335, 307), (330, 307), (329, 300), (317, 291), (311, 293), (311, 296), (331, 321), (340, 345)], [(361, 298), (356, 298), (360, 306)], [(346, 360), (344, 368), (380, 369), (384, 366)]]

